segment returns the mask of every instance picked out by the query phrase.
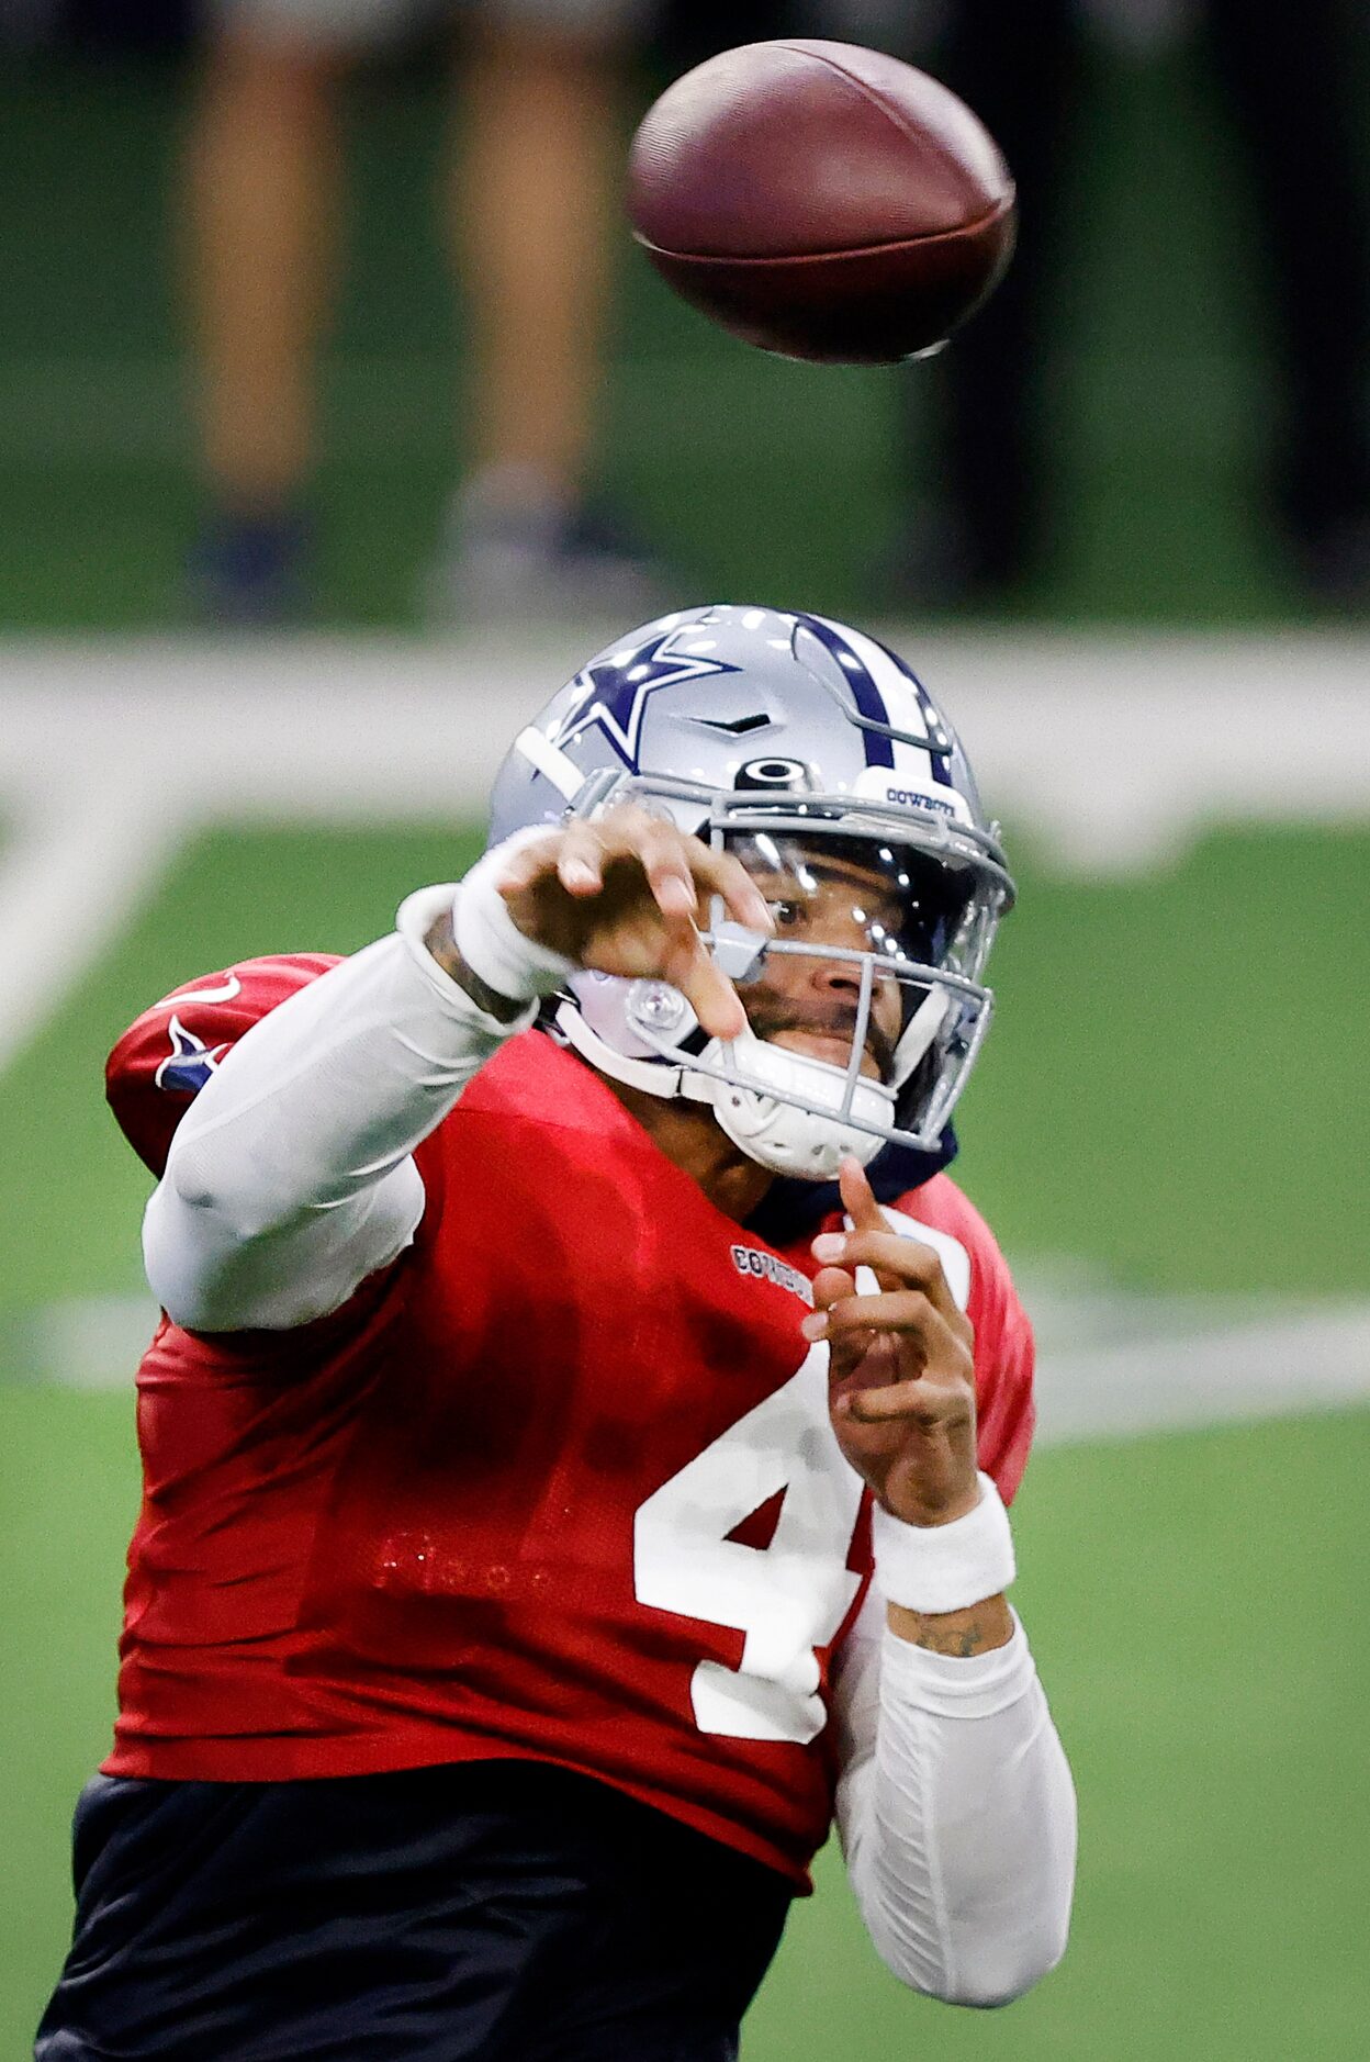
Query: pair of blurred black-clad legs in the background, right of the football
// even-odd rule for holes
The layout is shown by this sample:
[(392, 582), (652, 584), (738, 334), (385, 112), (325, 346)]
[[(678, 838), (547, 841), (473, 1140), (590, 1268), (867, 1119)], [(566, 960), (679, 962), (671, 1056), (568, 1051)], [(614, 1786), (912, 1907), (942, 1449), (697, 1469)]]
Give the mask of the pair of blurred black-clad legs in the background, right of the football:
[[(851, 16), (863, 6), (880, 14), (888, 0), (826, 4)], [(999, 140), (1018, 177), (1020, 239), (993, 301), (933, 367), (946, 470), (927, 503), (913, 487), (921, 396), (902, 386), (911, 505), (892, 584), (909, 602), (974, 604), (999, 598), (1053, 544), (1042, 377), (1082, 37), (1069, 0), (946, 0), (941, 14), (923, 62)], [(1203, 21), (1259, 210), (1277, 377), (1273, 516), (1314, 598), (1366, 606), (1370, 208), (1354, 146), (1347, 14), (1339, 0), (1308, 0), (1292, 27), (1267, 0), (1207, 0)]]

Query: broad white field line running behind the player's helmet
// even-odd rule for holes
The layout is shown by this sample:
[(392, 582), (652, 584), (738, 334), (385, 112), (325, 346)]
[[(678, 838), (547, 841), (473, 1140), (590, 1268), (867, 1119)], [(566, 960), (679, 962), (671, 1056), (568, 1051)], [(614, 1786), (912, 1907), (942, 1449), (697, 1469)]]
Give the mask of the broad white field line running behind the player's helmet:
[[(1152, 866), (1222, 821), (1370, 819), (1370, 637), (894, 639), (966, 732), (995, 812), (1061, 866)], [(183, 835), (470, 821), (593, 645), (575, 629), (0, 643), (0, 1064), (82, 971), (72, 938), (113, 938)]]

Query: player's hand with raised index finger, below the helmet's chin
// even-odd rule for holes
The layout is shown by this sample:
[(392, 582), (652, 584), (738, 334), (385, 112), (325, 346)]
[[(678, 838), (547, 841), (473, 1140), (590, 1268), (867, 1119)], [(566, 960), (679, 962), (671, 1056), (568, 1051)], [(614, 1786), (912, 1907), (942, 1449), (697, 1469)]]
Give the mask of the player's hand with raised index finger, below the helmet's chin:
[[(855, 1159), (843, 1161), (851, 1231), (814, 1239), (806, 1338), (828, 1340), (832, 1429), (851, 1466), (894, 1518), (950, 1524), (979, 1503), (974, 1330), (931, 1245), (890, 1229)], [(878, 1295), (857, 1295), (871, 1268)]]

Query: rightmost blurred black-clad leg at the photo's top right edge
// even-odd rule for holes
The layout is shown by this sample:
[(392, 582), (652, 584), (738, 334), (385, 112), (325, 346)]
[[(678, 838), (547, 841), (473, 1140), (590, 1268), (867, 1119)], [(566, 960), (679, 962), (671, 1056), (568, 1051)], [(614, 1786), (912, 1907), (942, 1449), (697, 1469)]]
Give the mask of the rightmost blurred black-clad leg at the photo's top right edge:
[(1213, 68), (1246, 146), (1279, 375), (1273, 511), (1306, 590), (1370, 606), (1370, 204), (1347, 16), (1209, 0)]

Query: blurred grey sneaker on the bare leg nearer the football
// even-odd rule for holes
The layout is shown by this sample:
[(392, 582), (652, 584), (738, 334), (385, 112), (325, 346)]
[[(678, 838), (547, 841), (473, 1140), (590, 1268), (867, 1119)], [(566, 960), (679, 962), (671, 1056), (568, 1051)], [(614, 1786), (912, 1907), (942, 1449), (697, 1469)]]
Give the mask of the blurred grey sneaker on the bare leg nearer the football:
[(509, 621), (643, 623), (672, 606), (670, 575), (600, 501), (562, 501), (521, 468), (468, 480), (424, 579), (439, 629)]

